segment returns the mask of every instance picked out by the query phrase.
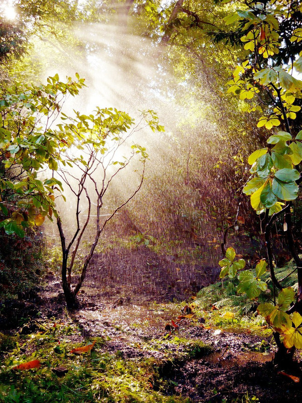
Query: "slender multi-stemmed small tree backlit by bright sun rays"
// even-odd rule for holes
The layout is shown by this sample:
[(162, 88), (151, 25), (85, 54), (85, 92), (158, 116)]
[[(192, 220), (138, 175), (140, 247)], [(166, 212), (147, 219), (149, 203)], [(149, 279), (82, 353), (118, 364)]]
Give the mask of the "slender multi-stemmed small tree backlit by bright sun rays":
[[(121, 148), (124, 149), (124, 146), (127, 145), (127, 140), (146, 125), (153, 130), (163, 131), (164, 128), (159, 125), (158, 117), (152, 110), (143, 112), (137, 124), (125, 112), (112, 108), (97, 108), (96, 114), (89, 116), (81, 115), (77, 112), (76, 118), (71, 120), (72, 123), (66, 123), (64, 127), (59, 125), (59, 127), (61, 130), (70, 131), (75, 136), (74, 146), (81, 151), (81, 156), (74, 158), (68, 157), (68, 154), (66, 154), (65, 161), (72, 164), (73, 170), (66, 170), (62, 167), (57, 171), (62, 181), (65, 182), (74, 194), (76, 201), (75, 220), (77, 225), (75, 232), (70, 236), (71, 240), (69, 242), (66, 242), (62, 218), (60, 216), (57, 219), (57, 224), (62, 245), (63, 290), (67, 304), (74, 306), (77, 293), (85, 279), (88, 264), (93, 256), (102, 231), (117, 211), (126, 205), (139, 191), (144, 178), (144, 167), (148, 158), (145, 148), (133, 144), (130, 147), (128, 156), (123, 157), (119, 161), (115, 160), (117, 151)], [(125, 151), (123, 150), (123, 152)], [(142, 164), (141, 173), (137, 173), (138, 184), (136, 188), (117, 206), (110, 205), (110, 213), (105, 214), (107, 218), (102, 220), (101, 209), (104, 206), (108, 189), (110, 190), (113, 181), (120, 177), (123, 171), (125, 172), (124, 175), (130, 175), (128, 166), (134, 157), (139, 157), (139, 162)], [(75, 176), (75, 168), (80, 172), (79, 176)], [(73, 180), (75, 180), (76, 185), (72, 183)], [(120, 181), (122, 183), (122, 180)], [(89, 189), (92, 190), (89, 191)], [(87, 215), (86, 219), (81, 220), (80, 204), (83, 204), (83, 196), (86, 199)], [(93, 207), (95, 214), (92, 214)], [(89, 228), (90, 220), (93, 223)], [(85, 232), (89, 232), (89, 238), (92, 237), (93, 240), (89, 240), (89, 252), (81, 263), (81, 275), (74, 289), (72, 289), (71, 275), (80, 242), (83, 239), (87, 239), (87, 236), (85, 238)], [(73, 250), (71, 249), (72, 247)]]

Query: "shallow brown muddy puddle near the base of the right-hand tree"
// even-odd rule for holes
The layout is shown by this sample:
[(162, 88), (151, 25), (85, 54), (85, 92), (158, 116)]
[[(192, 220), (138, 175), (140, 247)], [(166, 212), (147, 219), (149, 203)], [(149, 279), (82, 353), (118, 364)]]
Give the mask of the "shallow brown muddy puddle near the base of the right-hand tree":
[(246, 365), (249, 362), (268, 362), (273, 359), (273, 356), (274, 354), (272, 352), (261, 353), (258, 351), (238, 351), (236, 353), (230, 353), (226, 351), (225, 353), (216, 352), (209, 354), (207, 357), (205, 357), (205, 360), (213, 364), (219, 363), (223, 367), (231, 367), (234, 365)]

